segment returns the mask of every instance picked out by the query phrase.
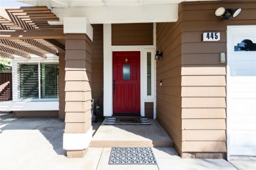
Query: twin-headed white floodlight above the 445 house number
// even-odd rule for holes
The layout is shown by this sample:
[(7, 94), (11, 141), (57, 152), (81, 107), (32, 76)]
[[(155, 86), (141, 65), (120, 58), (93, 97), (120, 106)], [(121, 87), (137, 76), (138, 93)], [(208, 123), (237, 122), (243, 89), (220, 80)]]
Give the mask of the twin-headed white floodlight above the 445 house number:
[[(219, 9), (215, 10), (215, 16), (217, 16), (219, 18), (222, 17), (223, 20), (228, 20), (230, 18), (230, 16), (232, 16), (233, 18), (238, 16), (241, 11), (242, 11), (241, 8), (239, 8), (239, 9), (224, 9), (224, 7), (219, 7)], [(229, 14), (227, 12), (229, 12)]]

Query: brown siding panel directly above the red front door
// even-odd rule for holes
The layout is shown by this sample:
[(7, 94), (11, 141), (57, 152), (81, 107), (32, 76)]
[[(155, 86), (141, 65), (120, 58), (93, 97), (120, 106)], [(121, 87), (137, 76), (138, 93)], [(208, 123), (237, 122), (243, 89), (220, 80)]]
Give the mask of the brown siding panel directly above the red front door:
[(112, 45), (153, 45), (153, 24), (112, 24)]

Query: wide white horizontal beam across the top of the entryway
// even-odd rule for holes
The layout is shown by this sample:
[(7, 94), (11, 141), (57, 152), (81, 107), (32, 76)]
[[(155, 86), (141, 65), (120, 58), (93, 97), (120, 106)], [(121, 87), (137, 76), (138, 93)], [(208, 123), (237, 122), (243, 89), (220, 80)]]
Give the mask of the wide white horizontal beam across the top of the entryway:
[(60, 18), (87, 17), (91, 24), (177, 22), (179, 4), (53, 8)]

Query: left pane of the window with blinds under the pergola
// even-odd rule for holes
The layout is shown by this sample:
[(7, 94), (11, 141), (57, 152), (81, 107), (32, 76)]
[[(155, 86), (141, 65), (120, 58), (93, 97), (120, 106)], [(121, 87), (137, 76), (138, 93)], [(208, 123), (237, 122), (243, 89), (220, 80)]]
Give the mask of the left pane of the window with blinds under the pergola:
[(38, 64), (21, 64), (19, 73), (20, 98), (38, 99)]

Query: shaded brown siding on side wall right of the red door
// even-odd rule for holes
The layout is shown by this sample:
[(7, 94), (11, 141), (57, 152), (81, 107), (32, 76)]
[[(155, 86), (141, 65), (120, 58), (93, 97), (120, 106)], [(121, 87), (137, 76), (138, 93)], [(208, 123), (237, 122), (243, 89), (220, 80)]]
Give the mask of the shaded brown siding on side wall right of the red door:
[[(181, 20), (156, 24), (156, 118), (181, 150)], [(162, 81), (162, 86), (160, 86)]]

